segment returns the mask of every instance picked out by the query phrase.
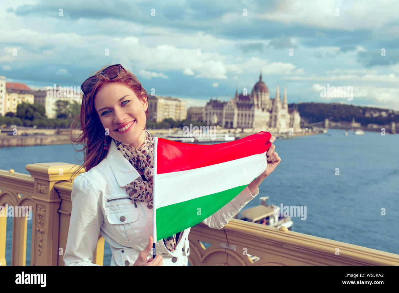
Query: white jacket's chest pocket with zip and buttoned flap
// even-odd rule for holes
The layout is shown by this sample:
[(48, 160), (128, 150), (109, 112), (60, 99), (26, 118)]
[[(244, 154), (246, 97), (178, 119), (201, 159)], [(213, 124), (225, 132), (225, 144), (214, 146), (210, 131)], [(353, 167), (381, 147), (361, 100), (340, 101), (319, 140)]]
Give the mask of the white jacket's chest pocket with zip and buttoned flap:
[[(112, 203), (108, 206), (107, 203)], [(107, 200), (105, 216), (109, 229), (120, 244), (142, 243), (138, 208), (131, 203), (130, 198), (115, 198)]]

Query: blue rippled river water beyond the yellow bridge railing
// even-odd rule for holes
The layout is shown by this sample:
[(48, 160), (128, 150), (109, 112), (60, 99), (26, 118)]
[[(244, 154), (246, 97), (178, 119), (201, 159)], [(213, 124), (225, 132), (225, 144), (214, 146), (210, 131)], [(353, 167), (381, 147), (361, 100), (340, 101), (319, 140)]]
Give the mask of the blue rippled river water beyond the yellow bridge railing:
[[(399, 134), (344, 133), (329, 130), (276, 140), (281, 162), (243, 209), (259, 205), (262, 196), (277, 206), (306, 206), (306, 220), (292, 217), (292, 231), (399, 254)], [(77, 159), (83, 159), (83, 153), (74, 153), (71, 144), (0, 148), (0, 169), (26, 174), (29, 163), (75, 164)], [(28, 220), (27, 265), (31, 235), (32, 220)], [(7, 265), (11, 245), (8, 217)], [(111, 256), (105, 242), (104, 265), (111, 263)]]

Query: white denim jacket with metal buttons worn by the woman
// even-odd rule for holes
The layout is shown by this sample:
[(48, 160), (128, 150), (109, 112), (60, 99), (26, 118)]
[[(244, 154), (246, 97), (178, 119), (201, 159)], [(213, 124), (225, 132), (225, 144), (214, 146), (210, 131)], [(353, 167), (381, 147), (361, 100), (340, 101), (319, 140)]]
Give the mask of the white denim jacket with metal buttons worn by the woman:
[[(140, 174), (116, 148), (111, 140), (110, 149), (97, 166), (79, 174), (73, 181), (72, 212), (67, 246), (63, 260), (65, 265), (93, 264), (93, 252), (101, 234), (110, 244), (111, 265), (133, 265), (138, 254), (152, 236), (152, 210), (146, 202), (131, 203), (125, 186)], [(213, 229), (221, 229), (251, 199), (248, 187), (223, 208), (202, 222)], [(166, 249), (163, 240), (156, 242), (156, 254), (163, 257), (163, 265), (187, 265), (190, 254), (188, 233), (180, 235), (176, 250)], [(151, 257), (151, 252), (148, 255)]]

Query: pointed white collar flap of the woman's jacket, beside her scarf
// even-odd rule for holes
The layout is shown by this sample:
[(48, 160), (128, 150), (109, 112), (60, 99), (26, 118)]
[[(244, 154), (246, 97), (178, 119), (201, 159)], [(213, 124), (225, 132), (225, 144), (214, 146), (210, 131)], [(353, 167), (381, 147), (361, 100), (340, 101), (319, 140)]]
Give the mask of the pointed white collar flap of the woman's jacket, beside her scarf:
[(107, 155), (108, 163), (118, 181), (120, 187), (126, 186), (128, 183), (141, 178), (141, 175), (136, 169), (130, 164), (130, 162), (124, 157), (124, 155), (117, 149), (114, 140), (111, 140), (109, 146), (109, 152)]

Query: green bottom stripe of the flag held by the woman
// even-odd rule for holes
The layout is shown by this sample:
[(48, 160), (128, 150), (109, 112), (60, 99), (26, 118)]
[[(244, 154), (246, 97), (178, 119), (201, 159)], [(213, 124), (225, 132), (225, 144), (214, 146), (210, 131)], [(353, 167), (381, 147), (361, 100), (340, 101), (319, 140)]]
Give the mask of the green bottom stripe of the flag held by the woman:
[[(211, 195), (157, 208), (156, 241), (205, 220), (239, 195), (247, 186), (248, 184), (241, 185)], [(195, 188), (195, 185), (193, 188)]]

